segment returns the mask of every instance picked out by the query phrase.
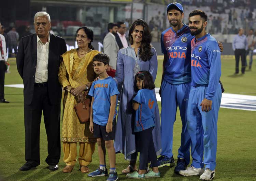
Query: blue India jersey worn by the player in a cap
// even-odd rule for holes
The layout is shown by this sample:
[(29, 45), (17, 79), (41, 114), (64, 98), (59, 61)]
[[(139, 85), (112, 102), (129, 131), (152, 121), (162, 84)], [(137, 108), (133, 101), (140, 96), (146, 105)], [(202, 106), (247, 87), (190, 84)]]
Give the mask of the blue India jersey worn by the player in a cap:
[(172, 27), (162, 32), (161, 49), (162, 53), (167, 55), (163, 78), (170, 84), (191, 81), (190, 42), (193, 38), (189, 27), (185, 24), (177, 33)]

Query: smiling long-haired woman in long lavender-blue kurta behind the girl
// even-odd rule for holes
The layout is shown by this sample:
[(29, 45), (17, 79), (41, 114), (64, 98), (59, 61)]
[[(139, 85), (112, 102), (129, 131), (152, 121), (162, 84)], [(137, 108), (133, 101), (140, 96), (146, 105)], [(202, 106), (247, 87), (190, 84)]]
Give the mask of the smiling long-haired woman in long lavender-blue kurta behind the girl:
[[(116, 152), (121, 152), (125, 160), (130, 161), (130, 165), (122, 171), (129, 173), (136, 169), (138, 153), (133, 132), (134, 111), (132, 109), (132, 98), (138, 91), (134, 84), (134, 76), (142, 70), (149, 71), (154, 81), (157, 73), (156, 51), (150, 46), (151, 33), (144, 20), (136, 20), (129, 30), (129, 40), (131, 46), (121, 49), (117, 54), (117, 67), (115, 78), (118, 86), (122, 87), (120, 105), (117, 116), (114, 147)], [(158, 106), (155, 109), (155, 128), (153, 130), (153, 140), (157, 155), (161, 152), (160, 139), (160, 117)]]

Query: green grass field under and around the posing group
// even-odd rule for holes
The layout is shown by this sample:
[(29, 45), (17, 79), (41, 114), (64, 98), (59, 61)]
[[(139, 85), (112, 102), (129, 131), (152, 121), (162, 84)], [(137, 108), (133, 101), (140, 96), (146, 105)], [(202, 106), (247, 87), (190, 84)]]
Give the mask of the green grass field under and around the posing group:
[[(160, 87), (162, 58), (162, 56), (158, 57), (157, 87)], [(256, 95), (256, 62), (253, 62), (253, 71), (246, 71), (244, 75), (239, 74), (236, 76), (233, 75), (234, 62), (232, 56), (222, 57), (221, 80), (226, 89), (225, 93)], [(5, 84), (21, 84), (22, 79), (17, 73), (15, 61), (11, 61), (10, 71), (10, 74), (5, 74)], [(43, 120), (40, 137), (41, 165), (29, 171), (19, 171), (18, 168), (25, 163), (23, 89), (5, 87), (5, 98), (11, 103), (0, 104), (0, 180), (106, 180), (106, 177), (94, 179), (89, 178), (87, 174), (82, 174), (78, 171), (78, 162), (72, 173), (62, 173), (61, 169), (65, 166), (62, 160), (62, 153), (59, 170), (49, 171), (44, 161), (47, 156), (47, 138)], [(158, 105), (161, 110), (160, 103)], [(219, 110), (217, 167), (214, 180), (256, 180), (256, 156), (254, 155), (256, 152), (255, 121), (256, 111), (225, 108)], [(174, 124), (173, 132), (174, 158), (177, 157), (177, 149), (180, 145), (181, 126), (179, 112), (177, 112), (177, 120)], [(97, 154), (96, 146), (93, 162), (89, 165), (91, 170), (95, 170), (99, 165)], [(124, 160), (122, 154), (117, 154), (116, 163), (119, 180), (128, 180), (125, 175), (120, 174), (121, 170), (129, 164), (128, 161)], [(199, 176), (183, 177), (176, 175), (174, 167), (163, 167), (159, 170), (161, 172), (161, 178), (157, 179), (159, 181), (199, 180)]]

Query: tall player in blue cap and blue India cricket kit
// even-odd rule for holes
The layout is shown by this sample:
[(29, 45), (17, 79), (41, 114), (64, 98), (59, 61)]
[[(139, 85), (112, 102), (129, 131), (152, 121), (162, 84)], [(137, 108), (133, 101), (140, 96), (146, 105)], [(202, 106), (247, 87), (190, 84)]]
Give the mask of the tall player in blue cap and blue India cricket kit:
[[(190, 42), (194, 38), (190, 29), (182, 23), (184, 13), (180, 3), (167, 6), (171, 27), (161, 34), (161, 49), (164, 54), (163, 73), (159, 94), (161, 96), (161, 157), (158, 167), (174, 166), (172, 154), (173, 125), (177, 107), (182, 121), (181, 146), (178, 150), (175, 173), (186, 169), (190, 159), (190, 136), (187, 131), (187, 105), (191, 87)], [(222, 49), (223, 46), (219, 45)]]

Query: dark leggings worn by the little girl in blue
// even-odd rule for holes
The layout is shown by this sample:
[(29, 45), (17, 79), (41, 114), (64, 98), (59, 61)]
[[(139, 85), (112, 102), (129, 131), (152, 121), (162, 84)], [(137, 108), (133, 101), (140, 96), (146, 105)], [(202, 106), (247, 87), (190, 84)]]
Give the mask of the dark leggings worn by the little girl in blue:
[(152, 167), (158, 166), (155, 145), (153, 142), (153, 135), (152, 135), (153, 129), (154, 127), (151, 127), (143, 131), (136, 132), (136, 136), (137, 136), (136, 139), (138, 139), (137, 145), (139, 146), (139, 151), (140, 151), (140, 166), (139, 166), (140, 170), (145, 169), (145, 165), (148, 163), (148, 161), (151, 162)]

